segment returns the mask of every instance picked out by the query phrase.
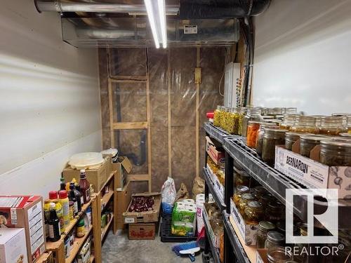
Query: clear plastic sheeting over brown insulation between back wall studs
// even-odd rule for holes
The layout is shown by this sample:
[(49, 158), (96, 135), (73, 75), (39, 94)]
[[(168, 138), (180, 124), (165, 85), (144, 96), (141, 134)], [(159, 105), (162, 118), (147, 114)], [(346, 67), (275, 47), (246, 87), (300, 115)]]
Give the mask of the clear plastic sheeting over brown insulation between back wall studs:
[[(196, 97), (194, 68), (197, 65), (196, 48), (148, 48), (100, 49), (100, 85), (102, 130), (104, 147), (110, 147), (110, 116), (107, 93), (107, 60), (110, 76), (145, 76), (149, 74), (150, 130), (152, 191), (159, 191), (166, 180), (168, 167), (168, 143), (171, 144), (171, 176), (177, 189), (185, 182), (192, 189), (196, 175)], [(145, 65), (147, 62), (147, 67)], [(199, 89), (199, 155), (200, 167), (204, 166), (204, 130), (206, 112), (223, 104), (218, 93), (223, 74), (225, 48), (201, 48), (200, 67), (202, 83)], [(168, 94), (168, 84), (170, 93)], [(147, 121), (146, 83), (114, 83), (114, 121)], [(168, 130), (168, 102), (171, 105), (171, 129)], [(168, 140), (171, 133), (171, 140)], [(118, 130), (114, 132), (116, 145), (123, 154), (135, 154), (141, 163), (133, 163), (133, 174), (147, 173), (146, 130)], [(145, 147), (144, 147), (144, 146)], [(145, 161), (144, 163), (142, 163)], [(133, 188), (132, 188), (133, 189)], [(133, 191), (145, 191), (139, 184)]]

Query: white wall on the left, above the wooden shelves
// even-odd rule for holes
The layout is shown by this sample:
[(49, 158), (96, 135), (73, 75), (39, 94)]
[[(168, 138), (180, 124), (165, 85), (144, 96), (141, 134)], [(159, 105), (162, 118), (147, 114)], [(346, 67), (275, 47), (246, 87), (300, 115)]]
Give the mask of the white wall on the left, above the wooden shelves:
[(2, 1), (0, 32), (0, 194), (46, 196), (71, 154), (101, 149), (97, 50), (64, 43), (32, 0)]

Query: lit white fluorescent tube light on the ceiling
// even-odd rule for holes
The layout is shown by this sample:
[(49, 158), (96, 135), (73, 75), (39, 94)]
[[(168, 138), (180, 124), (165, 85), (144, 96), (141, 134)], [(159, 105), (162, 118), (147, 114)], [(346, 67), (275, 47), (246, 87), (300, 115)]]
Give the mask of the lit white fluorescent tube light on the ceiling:
[(144, 0), (156, 48), (167, 47), (166, 6), (164, 0)]

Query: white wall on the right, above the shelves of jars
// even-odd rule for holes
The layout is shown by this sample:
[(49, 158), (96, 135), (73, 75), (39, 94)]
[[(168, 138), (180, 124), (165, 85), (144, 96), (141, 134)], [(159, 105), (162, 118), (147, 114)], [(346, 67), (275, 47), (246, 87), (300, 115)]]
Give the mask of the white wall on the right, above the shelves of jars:
[(351, 112), (351, 1), (273, 0), (256, 18), (253, 104)]

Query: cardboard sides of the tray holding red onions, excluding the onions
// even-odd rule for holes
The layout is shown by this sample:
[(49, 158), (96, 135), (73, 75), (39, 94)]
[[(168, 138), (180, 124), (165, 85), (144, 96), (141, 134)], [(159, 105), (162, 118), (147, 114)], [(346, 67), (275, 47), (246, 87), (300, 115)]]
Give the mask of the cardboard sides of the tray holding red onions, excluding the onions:
[(123, 213), (124, 224), (135, 224), (135, 223), (147, 223), (147, 222), (158, 222), (159, 221), (159, 210), (161, 208), (161, 193), (143, 193), (133, 194), (134, 196), (154, 196), (154, 205), (152, 211), (147, 212), (128, 212), (131, 203), (129, 203), (126, 212)]

